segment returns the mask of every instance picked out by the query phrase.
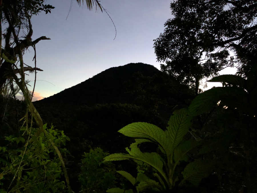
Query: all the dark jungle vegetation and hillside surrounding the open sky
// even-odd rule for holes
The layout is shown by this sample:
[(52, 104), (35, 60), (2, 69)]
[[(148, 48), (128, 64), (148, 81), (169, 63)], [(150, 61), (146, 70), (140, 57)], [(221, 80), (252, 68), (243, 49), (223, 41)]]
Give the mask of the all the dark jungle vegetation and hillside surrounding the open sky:
[[(0, 1), (0, 192), (256, 192), (256, 8), (172, 1), (154, 40), (161, 71), (113, 67), (32, 103), (25, 72), (41, 69), (23, 54), (49, 38), (32, 41), (30, 19), (54, 7)], [(223, 86), (201, 91), (203, 78)]]

